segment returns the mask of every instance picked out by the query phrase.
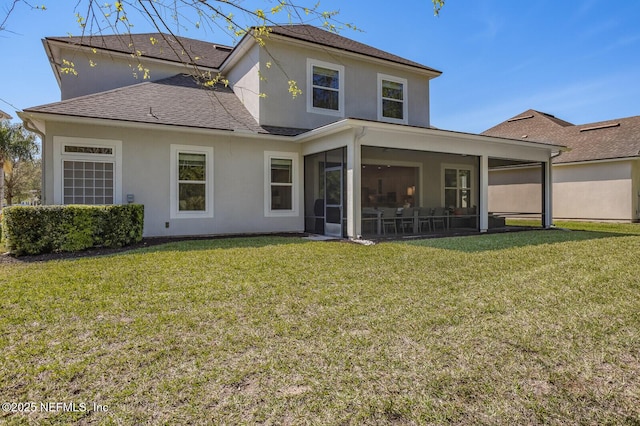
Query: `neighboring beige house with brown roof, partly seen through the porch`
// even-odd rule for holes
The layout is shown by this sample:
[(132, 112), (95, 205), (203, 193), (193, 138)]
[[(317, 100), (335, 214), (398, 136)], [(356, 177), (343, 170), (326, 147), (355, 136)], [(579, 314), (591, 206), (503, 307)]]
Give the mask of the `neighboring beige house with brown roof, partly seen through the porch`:
[[(528, 110), (483, 135), (569, 147), (553, 159), (555, 219), (640, 219), (640, 116), (574, 125)], [(493, 170), (490, 208), (523, 211), (517, 210), (526, 205), (523, 200), (539, 199), (540, 181), (538, 173), (526, 168)]]

